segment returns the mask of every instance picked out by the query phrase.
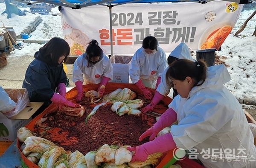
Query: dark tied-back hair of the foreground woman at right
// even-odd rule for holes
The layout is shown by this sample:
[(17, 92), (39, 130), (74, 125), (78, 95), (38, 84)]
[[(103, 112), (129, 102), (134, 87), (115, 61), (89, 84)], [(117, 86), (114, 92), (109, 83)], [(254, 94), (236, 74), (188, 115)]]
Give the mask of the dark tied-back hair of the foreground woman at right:
[[(171, 84), (171, 79), (184, 81), (187, 76), (195, 80), (194, 86), (200, 86), (206, 79), (207, 65), (203, 60), (192, 62), (188, 59), (178, 59), (173, 62), (166, 72), (166, 82)], [(198, 82), (201, 81), (200, 84)]]

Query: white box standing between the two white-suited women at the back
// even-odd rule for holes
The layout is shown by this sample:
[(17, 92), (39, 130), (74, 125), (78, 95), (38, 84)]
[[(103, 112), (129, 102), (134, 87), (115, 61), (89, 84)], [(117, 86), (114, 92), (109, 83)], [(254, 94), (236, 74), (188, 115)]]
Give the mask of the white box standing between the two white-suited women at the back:
[(110, 82), (129, 83), (129, 65), (128, 64), (112, 64), (113, 80)]

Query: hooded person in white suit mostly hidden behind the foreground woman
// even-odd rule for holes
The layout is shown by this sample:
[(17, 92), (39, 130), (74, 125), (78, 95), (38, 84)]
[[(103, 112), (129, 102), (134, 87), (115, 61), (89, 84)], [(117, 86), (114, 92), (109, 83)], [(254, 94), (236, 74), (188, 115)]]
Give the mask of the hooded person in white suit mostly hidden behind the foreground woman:
[[(174, 62), (177, 59), (189, 59), (189, 60), (195, 62), (195, 60), (192, 58), (192, 56), (190, 54), (189, 47), (183, 42), (180, 43), (179, 45), (177, 45), (177, 47), (170, 53), (170, 55), (167, 59), (167, 62), (169, 65), (171, 65), (172, 62)], [(162, 73), (161, 82), (157, 87), (157, 90), (154, 94), (154, 98), (151, 100), (150, 104), (148, 104), (141, 110), (141, 112), (146, 113), (146, 112), (154, 109), (154, 107), (159, 103), (159, 101), (163, 100), (163, 98), (169, 94), (172, 86), (166, 83), (166, 71), (167, 70), (168, 70), (168, 68), (166, 68), (166, 70), (164, 70)], [(176, 90), (174, 90), (173, 95), (174, 95), (173, 98), (177, 95)]]

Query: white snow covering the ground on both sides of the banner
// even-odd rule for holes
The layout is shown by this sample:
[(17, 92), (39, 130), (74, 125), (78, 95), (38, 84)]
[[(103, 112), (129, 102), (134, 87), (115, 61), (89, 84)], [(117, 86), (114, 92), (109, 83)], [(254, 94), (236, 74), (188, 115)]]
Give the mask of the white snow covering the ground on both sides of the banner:
[[(0, 12), (5, 8), (4, 3), (0, 3)], [(254, 9), (255, 10), (255, 9)], [(253, 13), (254, 10), (242, 11), (239, 20), (231, 34), (227, 37), (217, 55), (227, 64), (231, 75), (231, 81), (225, 86), (236, 96), (236, 98), (256, 98), (256, 36), (252, 37), (256, 25), (256, 16), (248, 23), (241, 36), (233, 36), (244, 21)], [(52, 8), (54, 14), (59, 14), (58, 7)], [(7, 20), (7, 15), (0, 15), (0, 20), (5, 25), (12, 25), (16, 33), (20, 33), (29, 22), (34, 20), (38, 14), (26, 13), (25, 17), (13, 15)], [(52, 37), (63, 38), (61, 28), (61, 17), (40, 15), (43, 22), (32, 33), (30, 39), (51, 39)], [(0, 23), (0, 26), (2, 23)], [(33, 55), (42, 45), (24, 44), (22, 50), (12, 51), (10, 57)], [(168, 53), (169, 54), (169, 53)]]

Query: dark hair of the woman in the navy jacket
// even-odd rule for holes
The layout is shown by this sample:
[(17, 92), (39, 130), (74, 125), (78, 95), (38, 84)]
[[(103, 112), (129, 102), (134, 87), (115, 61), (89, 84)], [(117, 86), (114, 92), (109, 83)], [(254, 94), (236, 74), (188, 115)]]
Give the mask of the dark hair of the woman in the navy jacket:
[(66, 62), (67, 56), (70, 53), (70, 47), (68, 43), (64, 39), (58, 37), (53, 37), (50, 39), (50, 41), (41, 47), (40, 50), (44, 52), (46, 56), (50, 56), (54, 64), (58, 63), (58, 59), (61, 56), (65, 56), (63, 62)]

